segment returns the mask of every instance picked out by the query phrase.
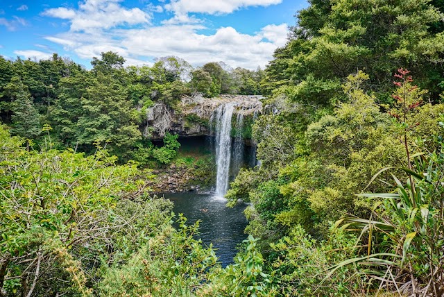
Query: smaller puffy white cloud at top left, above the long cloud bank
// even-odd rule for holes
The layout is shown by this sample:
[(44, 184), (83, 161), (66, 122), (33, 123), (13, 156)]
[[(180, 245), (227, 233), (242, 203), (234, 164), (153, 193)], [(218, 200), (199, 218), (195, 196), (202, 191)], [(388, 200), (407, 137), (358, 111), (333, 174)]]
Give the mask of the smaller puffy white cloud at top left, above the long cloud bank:
[(120, 25), (148, 24), (151, 17), (139, 8), (124, 8), (121, 0), (85, 0), (78, 10), (64, 7), (50, 8), (42, 15), (69, 19), (71, 31), (90, 31), (96, 28), (114, 28)]

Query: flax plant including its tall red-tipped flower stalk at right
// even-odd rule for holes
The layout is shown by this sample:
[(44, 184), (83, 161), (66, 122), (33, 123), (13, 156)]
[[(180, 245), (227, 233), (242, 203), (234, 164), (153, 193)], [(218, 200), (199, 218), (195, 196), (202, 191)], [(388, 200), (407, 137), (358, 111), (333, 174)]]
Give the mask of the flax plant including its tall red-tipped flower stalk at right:
[[(398, 70), (396, 77), (402, 81), (395, 82), (399, 87), (393, 95), (397, 103), (390, 113), (398, 121), (407, 155), (407, 167), (401, 169), (409, 177), (402, 183), (391, 174), (395, 183), (392, 192), (358, 195), (375, 199), (370, 219), (349, 217), (337, 221), (336, 226), (360, 232), (367, 253), (332, 266), (327, 277), (336, 269), (360, 262), (370, 267), (364, 273), (371, 280), (368, 290), (374, 289), (376, 295), (394, 291), (399, 296), (443, 296), (444, 142), (436, 136), (435, 151), (410, 155), (409, 133), (420, 124), (409, 124), (409, 113), (420, 105), (425, 92), (410, 85), (408, 73)], [(440, 126), (442, 130), (443, 122)], [(370, 183), (388, 169), (379, 171)]]

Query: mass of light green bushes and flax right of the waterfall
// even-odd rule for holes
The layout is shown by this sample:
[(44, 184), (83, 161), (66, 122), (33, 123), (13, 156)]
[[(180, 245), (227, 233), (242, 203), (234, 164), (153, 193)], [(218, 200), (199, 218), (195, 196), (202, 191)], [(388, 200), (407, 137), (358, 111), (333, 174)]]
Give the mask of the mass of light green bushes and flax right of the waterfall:
[[(300, 102), (291, 100), (303, 96), (287, 94), (282, 100), (280, 92), (268, 102), (281, 110), (255, 124), (262, 167), (241, 171), (227, 196), (230, 203), (237, 198), (252, 203), (246, 230), (261, 238), (258, 247), (272, 263), (267, 273), (276, 276), (282, 296), (363, 296), (384, 285), (403, 287), (401, 294), (441, 294), (427, 287), (440, 284), (438, 278), (429, 280), (432, 271), (441, 271), (434, 251), (442, 223), (434, 217), (437, 206), (430, 206), (441, 205), (441, 194), (433, 192), (439, 191), (441, 161), (437, 153), (429, 162), (420, 152), (441, 150), (431, 135), (441, 133), (436, 122), (443, 105), (422, 105), (427, 92), (413, 86), (407, 73), (400, 69), (391, 105), (378, 105), (376, 96), (364, 91), (370, 77), (358, 71), (343, 84), (333, 112), (311, 114), (308, 125), (292, 119), (300, 120)], [(417, 156), (413, 163), (411, 155)], [(389, 177), (380, 171), (384, 167), (404, 167), (394, 170), (400, 179), (411, 175), (407, 185), (395, 179), (398, 193), (386, 192), (392, 186), (384, 181)], [(364, 189), (376, 194), (356, 196)], [(355, 217), (339, 221), (343, 228), (329, 228), (328, 220), (350, 214)], [(357, 228), (359, 236), (348, 232)]]

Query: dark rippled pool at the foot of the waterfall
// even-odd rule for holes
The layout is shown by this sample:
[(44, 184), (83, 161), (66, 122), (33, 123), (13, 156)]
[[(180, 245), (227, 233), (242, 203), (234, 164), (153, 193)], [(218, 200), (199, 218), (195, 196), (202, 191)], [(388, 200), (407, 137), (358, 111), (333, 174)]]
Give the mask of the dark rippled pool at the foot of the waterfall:
[(232, 264), (237, 245), (247, 238), (244, 234), (247, 224), (243, 213), (245, 205), (225, 207), (226, 201), (217, 200), (212, 194), (197, 192), (165, 193), (163, 196), (173, 201), (173, 211), (184, 214), (187, 223), (200, 220), (200, 238), (203, 243), (213, 244), (223, 266)]

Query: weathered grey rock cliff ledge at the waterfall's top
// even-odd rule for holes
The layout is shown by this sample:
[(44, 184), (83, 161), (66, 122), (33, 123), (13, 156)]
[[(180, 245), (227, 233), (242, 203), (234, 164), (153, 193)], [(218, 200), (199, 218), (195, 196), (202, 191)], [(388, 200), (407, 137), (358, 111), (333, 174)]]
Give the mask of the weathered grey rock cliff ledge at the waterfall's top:
[(257, 117), (262, 112), (262, 96), (221, 95), (205, 98), (200, 95), (184, 97), (176, 110), (164, 103), (156, 103), (146, 111), (144, 137), (160, 139), (169, 131), (172, 134), (192, 137), (211, 135), (210, 117), (214, 110), (226, 103), (234, 104), (234, 114)]

